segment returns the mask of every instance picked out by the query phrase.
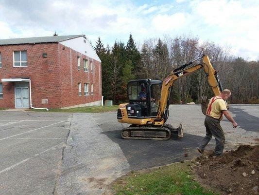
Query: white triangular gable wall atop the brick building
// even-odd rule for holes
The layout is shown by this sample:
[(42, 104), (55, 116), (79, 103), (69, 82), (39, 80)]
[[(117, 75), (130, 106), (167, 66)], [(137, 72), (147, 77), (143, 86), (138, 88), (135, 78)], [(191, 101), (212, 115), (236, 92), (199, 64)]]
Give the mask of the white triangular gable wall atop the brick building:
[[(84, 42), (84, 40), (86, 40), (86, 42)], [(92, 58), (101, 62), (101, 59), (96, 54), (95, 50), (93, 49), (88, 39), (85, 39), (84, 37), (64, 40), (64, 41), (60, 41), (59, 43), (67, 47), (70, 47), (71, 49), (77, 52), (80, 52), (81, 54), (84, 54), (89, 58)]]

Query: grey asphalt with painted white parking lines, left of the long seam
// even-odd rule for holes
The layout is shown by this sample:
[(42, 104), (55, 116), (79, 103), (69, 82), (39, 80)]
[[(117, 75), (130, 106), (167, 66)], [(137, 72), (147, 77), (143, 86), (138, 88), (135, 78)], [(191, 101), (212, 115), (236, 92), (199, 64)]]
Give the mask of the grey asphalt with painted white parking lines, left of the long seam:
[(0, 195), (52, 194), (70, 118), (67, 113), (0, 112)]

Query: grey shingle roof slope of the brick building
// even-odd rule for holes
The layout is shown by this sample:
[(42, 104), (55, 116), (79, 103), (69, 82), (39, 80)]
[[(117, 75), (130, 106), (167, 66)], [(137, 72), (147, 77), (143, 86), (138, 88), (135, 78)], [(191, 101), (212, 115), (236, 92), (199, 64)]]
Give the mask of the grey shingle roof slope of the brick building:
[(85, 36), (85, 35), (67, 35), (67, 36), (52, 36), (52, 37), (31, 37), (31, 38), (18, 38), (18, 39), (0, 39), (0, 45), (60, 42), (60, 41), (63, 41), (63, 40), (74, 39), (74, 38), (83, 37), (83, 36)]

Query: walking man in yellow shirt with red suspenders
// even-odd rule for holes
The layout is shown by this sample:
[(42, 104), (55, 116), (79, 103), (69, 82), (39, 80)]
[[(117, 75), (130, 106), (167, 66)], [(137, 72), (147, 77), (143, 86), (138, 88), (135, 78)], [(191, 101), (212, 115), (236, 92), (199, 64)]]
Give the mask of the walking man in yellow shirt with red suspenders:
[(238, 126), (238, 123), (231, 117), (227, 111), (225, 100), (231, 96), (228, 89), (224, 89), (219, 96), (210, 99), (207, 107), (206, 118), (204, 125), (206, 127), (206, 136), (203, 138), (201, 146), (197, 150), (204, 154), (204, 149), (212, 136), (215, 137), (216, 147), (214, 149), (214, 156), (221, 156), (224, 150), (225, 136), (220, 121), (223, 115), (233, 124), (233, 128)]

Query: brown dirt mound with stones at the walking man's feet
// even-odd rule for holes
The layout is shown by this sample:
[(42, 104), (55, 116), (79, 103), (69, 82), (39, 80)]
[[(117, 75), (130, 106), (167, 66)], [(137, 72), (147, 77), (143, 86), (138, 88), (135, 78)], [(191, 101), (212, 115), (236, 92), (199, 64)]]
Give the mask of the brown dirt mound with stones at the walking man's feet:
[(259, 146), (242, 145), (223, 156), (201, 156), (194, 167), (199, 182), (221, 195), (259, 195)]

